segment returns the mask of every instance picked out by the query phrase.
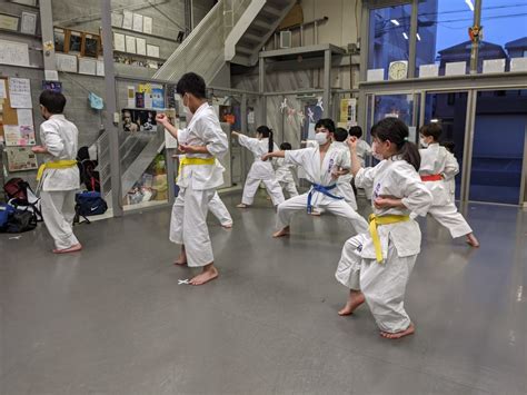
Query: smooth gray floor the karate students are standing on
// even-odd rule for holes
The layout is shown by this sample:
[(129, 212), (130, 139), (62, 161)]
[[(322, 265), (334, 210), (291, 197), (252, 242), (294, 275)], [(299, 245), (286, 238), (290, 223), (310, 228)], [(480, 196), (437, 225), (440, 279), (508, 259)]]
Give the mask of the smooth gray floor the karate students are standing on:
[(0, 235), (0, 393), (527, 393), (527, 213), (469, 206), (478, 250), (424, 220), (417, 333), (387, 340), (366, 306), (337, 315), (346, 223), (300, 214), (275, 240), (270, 203), (238, 199), (232, 230), (209, 218), (220, 278), (202, 287), (178, 285), (191, 270), (171, 264), (168, 208), (81, 225), (70, 256), (43, 226)]

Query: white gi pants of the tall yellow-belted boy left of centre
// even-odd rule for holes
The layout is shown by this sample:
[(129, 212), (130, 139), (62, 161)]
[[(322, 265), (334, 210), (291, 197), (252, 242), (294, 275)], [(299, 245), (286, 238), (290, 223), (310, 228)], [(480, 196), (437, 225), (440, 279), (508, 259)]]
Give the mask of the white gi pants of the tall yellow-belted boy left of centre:
[(170, 241), (185, 245), (189, 267), (211, 264), (212, 244), (207, 227), (207, 211), (216, 189), (179, 189), (172, 207)]

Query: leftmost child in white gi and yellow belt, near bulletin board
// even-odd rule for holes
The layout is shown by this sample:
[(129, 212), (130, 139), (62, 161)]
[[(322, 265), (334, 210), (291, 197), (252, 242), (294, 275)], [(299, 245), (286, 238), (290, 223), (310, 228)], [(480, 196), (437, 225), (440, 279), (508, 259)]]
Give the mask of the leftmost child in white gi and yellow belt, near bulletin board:
[(62, 93), (44, 90), (39, 101), (46, 119), (40, 125), (42, 145), (31, 150), (46, 155), (37, 176), (42, 217), (54, 240), (54, 254), (79, 251), (82, 246), (73, 235), (74, 194), (80, 187), (76, 160), (79, 131), (62, 115), (66, 106)]

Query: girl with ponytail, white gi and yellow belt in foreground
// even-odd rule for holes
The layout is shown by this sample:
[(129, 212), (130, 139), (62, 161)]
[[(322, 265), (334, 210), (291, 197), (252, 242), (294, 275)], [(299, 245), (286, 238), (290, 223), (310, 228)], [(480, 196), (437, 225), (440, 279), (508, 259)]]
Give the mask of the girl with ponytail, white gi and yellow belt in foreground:
[(419, 225), (410, 211), (426, 215), (431, 194), (420, 180), (419, 151), (408, 141), (408, 127), (386, 118), (371, 129), (372, 150), (384, 160), (361, 168), (357, 138), (350, 137), (351, 172), (357, 187), (372, 187), (374, 214), (369, 231), (348, 239), (338, 264), (337, 280), (350, 289), (339, 315), (349, 315), (365, 300), (386, 338), (415, 332), (405, 310), (405, 289), (420, 251)]

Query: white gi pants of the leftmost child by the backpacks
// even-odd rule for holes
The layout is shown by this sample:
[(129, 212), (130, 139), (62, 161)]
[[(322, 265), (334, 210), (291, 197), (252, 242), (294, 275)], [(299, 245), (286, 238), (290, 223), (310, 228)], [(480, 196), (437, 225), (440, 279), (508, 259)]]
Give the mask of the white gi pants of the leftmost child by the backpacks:
[(79, 244), (73, 235), (74, 194), (76, 190), (40, 191), (42, 217), (57, 249)]

